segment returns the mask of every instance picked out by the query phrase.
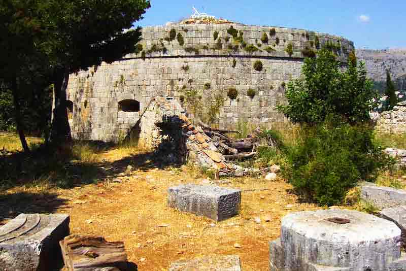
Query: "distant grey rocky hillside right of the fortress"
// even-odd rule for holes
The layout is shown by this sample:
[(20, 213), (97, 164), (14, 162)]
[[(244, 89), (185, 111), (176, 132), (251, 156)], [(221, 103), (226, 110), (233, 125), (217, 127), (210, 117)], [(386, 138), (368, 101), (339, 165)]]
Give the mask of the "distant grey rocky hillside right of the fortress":
[(406, 89), (406, 48), (371, 50), (357, 49), (358, 59), (365, 62), (369, 77), (375, 87), (383, 92), (386, 86), (386, 70), (390, 71), (392, 80), (399, 90)]

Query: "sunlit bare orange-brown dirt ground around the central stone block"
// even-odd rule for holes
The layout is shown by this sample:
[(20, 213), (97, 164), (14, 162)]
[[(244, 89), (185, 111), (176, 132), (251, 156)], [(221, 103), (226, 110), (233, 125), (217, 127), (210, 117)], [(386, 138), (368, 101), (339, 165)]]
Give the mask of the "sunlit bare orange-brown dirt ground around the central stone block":
[[(157, 168), (147, 157), (118, 159), (116, 151), (98, 155), (100, 168), (110, 176), (103, 182), (72, 189), (15, 187), (6, 191), (0, 206), (3, 218), (21, 212), (63, 213), (71, 216), (71, 233), (102, 235), (108, 241), (124, 241), (130, 262), (138, 270), (167, 270), (171, 262), (210, 255), (239, 255), (243, 270), (267, 270), (268, 242), (280, 235), (281, 218), (289, 212), (315, 210), (300, 204), (282, 180), (228, 178), (212, 184), (242, 190), (241, 214), (216, 223), (182, 213), (166, 205), (167, 188), (183, 183), (202, 183), (199, 174), (183, 166)], [(130, 177), (117, 174), (132, 164)], [(259, 217), (260, 223), (254, 218)], [(270, 219), (265, 222), (265, 218)], [(0, 225), (7, 219), (0, 217)], [(238, 243), (241, 248), (235, 248)]]

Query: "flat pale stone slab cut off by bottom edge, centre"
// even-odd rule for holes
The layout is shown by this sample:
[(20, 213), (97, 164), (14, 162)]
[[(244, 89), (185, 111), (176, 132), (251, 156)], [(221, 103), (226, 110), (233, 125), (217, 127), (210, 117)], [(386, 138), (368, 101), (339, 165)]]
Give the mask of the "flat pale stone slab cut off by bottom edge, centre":
[(213, 256), (192, 260), (180, 260), (169, 271), (241, 271), (240, 258), (236, 255)]

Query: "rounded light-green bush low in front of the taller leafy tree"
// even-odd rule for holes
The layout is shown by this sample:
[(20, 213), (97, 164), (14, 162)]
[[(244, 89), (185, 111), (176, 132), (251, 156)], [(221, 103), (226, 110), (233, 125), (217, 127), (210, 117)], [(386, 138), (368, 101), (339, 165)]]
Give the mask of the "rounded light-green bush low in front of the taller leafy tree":
[(328, 118), (302, 127), (302, 138), (289, 153), (288, 180), (304, 199), (320, 205), (341, 204), (358, 181), (375, 181), (390, 159), (374, 144), (373, 129)]

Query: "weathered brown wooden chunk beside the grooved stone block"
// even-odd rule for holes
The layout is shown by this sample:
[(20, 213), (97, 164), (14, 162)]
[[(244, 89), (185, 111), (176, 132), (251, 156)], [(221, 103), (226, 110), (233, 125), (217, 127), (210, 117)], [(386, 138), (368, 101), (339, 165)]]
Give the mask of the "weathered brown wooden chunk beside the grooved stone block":
[(59, 242), (69, 271), (125, 271), (123, 242), (107, 242), (101, 236), (69, 235)]

